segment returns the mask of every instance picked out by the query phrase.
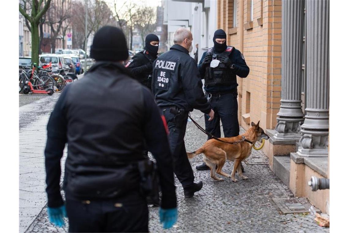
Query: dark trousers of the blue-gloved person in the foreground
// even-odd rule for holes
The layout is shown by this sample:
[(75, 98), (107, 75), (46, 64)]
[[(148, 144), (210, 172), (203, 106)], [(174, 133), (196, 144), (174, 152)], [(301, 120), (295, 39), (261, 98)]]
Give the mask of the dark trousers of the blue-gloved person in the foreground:
[(81, 199), (66, 192), (69, 232), (148, 232), (148, 206), (139, 192)]

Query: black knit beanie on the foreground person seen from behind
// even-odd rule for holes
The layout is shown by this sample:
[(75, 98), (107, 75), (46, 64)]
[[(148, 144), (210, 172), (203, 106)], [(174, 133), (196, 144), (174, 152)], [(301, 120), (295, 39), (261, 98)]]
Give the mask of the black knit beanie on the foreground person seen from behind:
[(90, 57), (97, 61), (123, 61), (128, 58), (124, 32), (119, 28), (105, 26), (93, 38)]

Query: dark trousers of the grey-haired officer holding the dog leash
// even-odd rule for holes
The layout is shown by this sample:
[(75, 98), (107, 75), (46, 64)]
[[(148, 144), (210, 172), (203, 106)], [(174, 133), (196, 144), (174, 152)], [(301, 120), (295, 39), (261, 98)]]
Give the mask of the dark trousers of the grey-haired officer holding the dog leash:
[[(174, 108), (174, 107), (173, 107)], [(169, 129), (169, 144), (174, 163), (174, 174), (176, 174), (183, 189), (191, 188), (194, 183), (194, 174), (190, 165), (184, 145), (184, 135), (188, 122), (188, 112), (173, 114), (170, 108), (161, 108), (166, 118)]]

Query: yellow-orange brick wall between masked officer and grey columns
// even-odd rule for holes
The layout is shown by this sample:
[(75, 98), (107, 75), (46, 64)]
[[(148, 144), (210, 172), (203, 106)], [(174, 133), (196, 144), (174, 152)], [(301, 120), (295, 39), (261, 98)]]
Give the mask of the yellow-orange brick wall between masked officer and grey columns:
[[(273, 129), (277, 123), (276, 114), (281, 99), (281, 0), (253, 0), (253, 28), (246, 30), (244, 24), (250, 22), (250, 0), (236, 2), (236, 32), (231, 29), (233, 1), (219, 0), (218, 28), (227, 32), (227, 44), (243, 52), (250, 74), (242, 79), (242, 93), (239, 93), (239, 122), (246, 124), (241, 115), (250, 109), (250, 122), (260, 121), (263, 129)], [(244, 9), (243, 22), (240, 21), (240, 7)], [(257, 19), (262, 18), (262, 25)], [(243, 27), (243, 48), (240, 46), (240, 31)], [(229, 29), (231, 34), (229, 34)], [(250, 101), (246, 100), (250, 93)], [(247, 105), (246, 105), (247, 102)]]

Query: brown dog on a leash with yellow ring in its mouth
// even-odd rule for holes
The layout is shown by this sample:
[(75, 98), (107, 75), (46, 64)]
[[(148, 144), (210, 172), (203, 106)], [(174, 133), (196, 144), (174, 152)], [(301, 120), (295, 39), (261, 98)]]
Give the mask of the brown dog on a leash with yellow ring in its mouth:
[[(243, 140), (243, 136), (245, 139), (251, 141), (253, 144), (248, 143)], [(264, 133), (263, 129), (259, 127), (259, 121), (257, 124), (251, 123), (251, 128), (248, 129), (245, 133), (240, 134), (236, 137), (230, 138), (219, 138), (220, 140), (227, 141), (230, 143), (237, 144), (229, 144), (224, 143), (215, 139), (210, 139), (203, 144), (198, 150), (188, 153), (188, 158), (192, 159), (196, 155), (203, 153), (203, 161), (207, 164), (207, 166), (211, 169), (211, 177), (217, 181), (223, 181), (222, 178), (218, 178), (216, 176), (216, 172), (225, 177), (231, 177), (231, 180), (237, 182), (235, 179), (235, 172), (238, 171), (238, 175), (242, 177), (242, 179), (246, 180), (248, 177), (243, 176), (240, 162), (245, 160), (251, 155), (252, 145), (256, 143), (256, 141), (262, 142), (262, 139), (269, 139), (268, 135)], [(227, 174), (222, 172), (222, 168), (226, 160), (234, 161), (234, 169), (231, 174)], [(217, 168), (216, 168), (217, 166)]]

